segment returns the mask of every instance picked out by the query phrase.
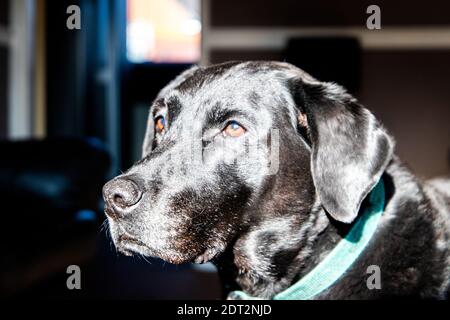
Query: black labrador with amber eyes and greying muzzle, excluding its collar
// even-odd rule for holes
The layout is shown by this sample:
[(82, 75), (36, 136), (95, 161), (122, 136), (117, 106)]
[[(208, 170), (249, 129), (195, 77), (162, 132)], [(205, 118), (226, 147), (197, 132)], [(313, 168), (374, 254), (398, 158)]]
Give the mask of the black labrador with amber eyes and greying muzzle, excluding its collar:
[(420, 181), (371, 112), (288, 63), (182, 73), (150, 108), (142, 159), (103, 193), (120, 252), (212, 261), (225, 296), (238, 289), (270, 299), (345, 237), (381, 178), (375, 234), (315, 298), (446, 298), (450, 182)]

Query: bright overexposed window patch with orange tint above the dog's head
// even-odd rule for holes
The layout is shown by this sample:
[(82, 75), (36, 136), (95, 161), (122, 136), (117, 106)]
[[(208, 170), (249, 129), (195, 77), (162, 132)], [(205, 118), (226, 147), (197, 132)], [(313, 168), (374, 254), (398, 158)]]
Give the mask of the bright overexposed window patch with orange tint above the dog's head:
[(127, 56), (132, 62), (200, 59), (200, 0), (128, 0)]

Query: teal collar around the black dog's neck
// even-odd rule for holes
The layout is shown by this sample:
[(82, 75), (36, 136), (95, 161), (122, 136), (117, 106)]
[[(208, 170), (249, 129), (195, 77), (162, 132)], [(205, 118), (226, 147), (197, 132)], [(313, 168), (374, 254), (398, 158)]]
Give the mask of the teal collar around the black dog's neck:
[[(335, 283), (358, 259), (377, 229), (384, 211), (384, 183), (378, 181), (369, 195), (369, 204), (348, 234), (314, 269), (291, 287), (276, 294), (273, 300), (310, 300)], [(257, 300), (243, 291), (232, 295), (244, 300)]]

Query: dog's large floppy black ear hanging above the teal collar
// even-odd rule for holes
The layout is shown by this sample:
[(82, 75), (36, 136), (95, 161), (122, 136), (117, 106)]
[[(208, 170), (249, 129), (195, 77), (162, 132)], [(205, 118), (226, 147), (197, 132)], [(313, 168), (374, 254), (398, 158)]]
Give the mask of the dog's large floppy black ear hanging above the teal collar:
[(311, 143), (311, 170), (322, 206), (351, 223), (383, 174), (393, 140), (374, 115), (334, 83), (296, 80), (299, 125)]

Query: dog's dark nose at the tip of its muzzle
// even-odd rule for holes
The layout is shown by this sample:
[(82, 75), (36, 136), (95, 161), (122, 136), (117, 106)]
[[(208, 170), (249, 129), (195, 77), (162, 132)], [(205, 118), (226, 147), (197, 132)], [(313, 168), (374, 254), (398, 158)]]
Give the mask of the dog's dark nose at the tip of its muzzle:
[(103, 187), (103, 199), (118, 214), (138, 203), (141, 197), (142, 191), (139, 186), (130, 179), (113, 179)]

